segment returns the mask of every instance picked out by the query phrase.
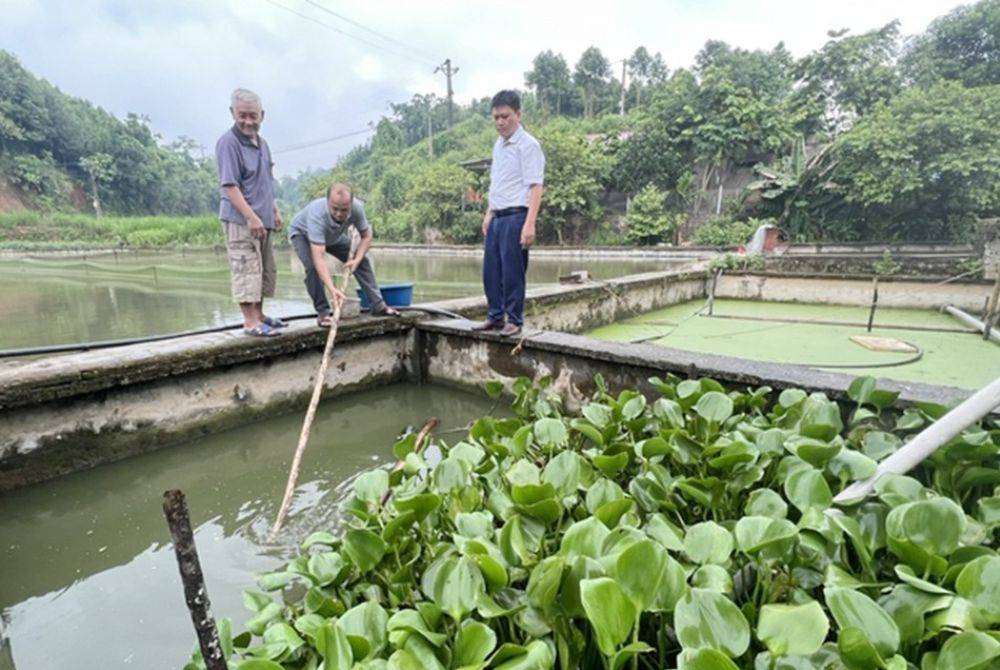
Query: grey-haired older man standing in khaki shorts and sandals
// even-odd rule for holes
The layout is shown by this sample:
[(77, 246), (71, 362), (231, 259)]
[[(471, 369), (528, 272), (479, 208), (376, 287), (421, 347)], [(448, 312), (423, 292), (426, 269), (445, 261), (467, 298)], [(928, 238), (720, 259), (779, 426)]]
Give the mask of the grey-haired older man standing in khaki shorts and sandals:
[(226, 237), (233, 299), (243, 312), (243, 332), (255, 337), (280, 335), (281, 319), (265, 316), (264, 298), (274, 297), (278, 277), (271, 236), (281, 230), (274, 200), (271, 149), (260, 136), (264, 109), (253, 91), (233, 91), (233, 127), (215, 144), (222, 189), (219, 219)]

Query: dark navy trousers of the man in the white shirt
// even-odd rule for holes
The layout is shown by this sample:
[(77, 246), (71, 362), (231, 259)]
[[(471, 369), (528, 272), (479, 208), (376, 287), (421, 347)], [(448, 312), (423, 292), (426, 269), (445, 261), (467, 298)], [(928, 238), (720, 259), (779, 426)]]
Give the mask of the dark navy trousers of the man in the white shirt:
[(521, 248), (521, 228), (527, 212), (493, 216), (486, 231), (483, 253), (483, 289), (490, 321), (524, 324), (525, 273), (528, 271), (528, 250)]

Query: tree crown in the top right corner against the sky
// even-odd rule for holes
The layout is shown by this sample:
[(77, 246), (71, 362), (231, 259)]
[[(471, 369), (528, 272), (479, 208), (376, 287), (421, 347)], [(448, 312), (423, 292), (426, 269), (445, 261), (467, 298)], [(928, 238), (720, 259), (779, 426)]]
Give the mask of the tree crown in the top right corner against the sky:
[(916, 37), (902, 59), (909, 79), (966, 86), (1000, 84), (1000, 0), (957, 7)]

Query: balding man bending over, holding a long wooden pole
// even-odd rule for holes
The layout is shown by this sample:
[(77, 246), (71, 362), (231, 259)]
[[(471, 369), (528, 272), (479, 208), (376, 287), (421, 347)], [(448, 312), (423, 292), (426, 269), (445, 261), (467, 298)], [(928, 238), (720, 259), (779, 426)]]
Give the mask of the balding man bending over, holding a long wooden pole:
[[(357, 252), (350, 260), (351, 236), (347, 234), (348, 226), (353, 226), (361, 236)], [(372, 314), (399, 316), (399, 312), (386, 305), (382, 298), (382, 291), (375, 279), (375, 269), (367, 255), (372, 244), (372, 227), (365, 217), (364, 203), (354, 197), (350, 186), (331, 184), (326, 190), (325, 198), (316, 198), (306, 205), (292, 219), (292, 224), (288, 227), (288, 239), (305, 267), (306, 291), (316, 308), (318, 325), (324, 328), (333, 325), (330, 302), (324, 289), (338, 302), (345, 298), (343, 291), (336, 287), (330, 276), (330, 269), (326, 265), (327, 254), (350, 268), (368, 296)]]

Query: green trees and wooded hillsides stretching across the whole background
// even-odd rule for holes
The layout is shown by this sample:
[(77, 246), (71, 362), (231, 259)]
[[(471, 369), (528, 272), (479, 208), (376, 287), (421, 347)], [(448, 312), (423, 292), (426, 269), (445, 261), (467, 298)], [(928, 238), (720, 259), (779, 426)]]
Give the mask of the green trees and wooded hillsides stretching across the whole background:
[[(722, 244), (761, 221), (799, 240), (960, 241), (1000, 209), (1000, 0), (914, 36), (831, 32), (802, 58), (712, 40), (688, 68), (642, 46), (614, 62), (592, 46), (570, 67), (544, 50), (522, 91), (547, 157), (543, 242)], [(455, 111), (449, 124), (433, 94), (392, 105), (334, 168), (282, 179), (285, 209), (335, 178), (383, 238), (475, 240), (496, 134), (489, 98)], [(63, 179), (116, 213), (212, 211), (211, 158), (158, 139), (0, 52), (0, 175), (39, 202), (64, 206)], [(609, 215), (615, 194), (627, 215)]]

